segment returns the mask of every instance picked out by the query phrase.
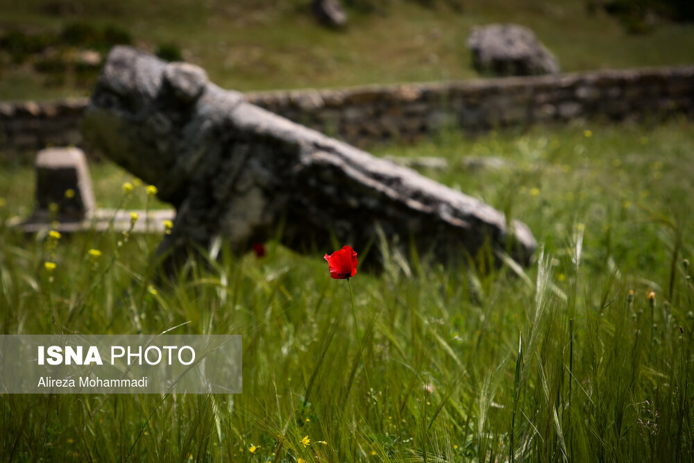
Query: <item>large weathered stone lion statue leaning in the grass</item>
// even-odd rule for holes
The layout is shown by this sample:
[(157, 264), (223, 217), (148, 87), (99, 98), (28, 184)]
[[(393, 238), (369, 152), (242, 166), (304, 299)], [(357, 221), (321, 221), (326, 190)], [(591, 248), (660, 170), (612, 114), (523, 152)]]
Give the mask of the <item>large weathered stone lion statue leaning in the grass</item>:
[(162, 85), (167, 66), (113, 49), (83, 123), (92, 144), (176, 206), (160, 252), (185, 255), (218, 235), (244, 251), (282, 224), (282, 242), (298, 250), (330, 249), (331, 233), (366, 249), (380, 227), (441, 260), (485, 242), (530, 260), (530, 230), (517, 221), (509, 228), (489, 205), (212, 83), (182, 105)]

